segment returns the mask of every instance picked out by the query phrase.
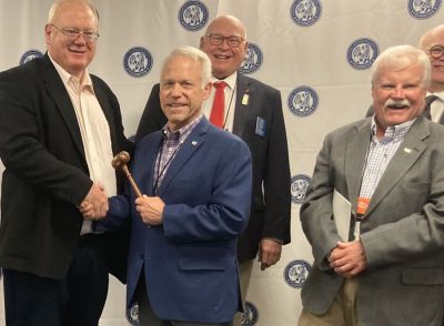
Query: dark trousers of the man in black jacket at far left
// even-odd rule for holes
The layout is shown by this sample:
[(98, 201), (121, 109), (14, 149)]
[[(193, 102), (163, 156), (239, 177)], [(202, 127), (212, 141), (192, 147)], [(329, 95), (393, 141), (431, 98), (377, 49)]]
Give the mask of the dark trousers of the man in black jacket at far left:
[(8, 326), (97, 326), (108, 294), (102, 237), (81, 236), (62, 279), (3, 268)]

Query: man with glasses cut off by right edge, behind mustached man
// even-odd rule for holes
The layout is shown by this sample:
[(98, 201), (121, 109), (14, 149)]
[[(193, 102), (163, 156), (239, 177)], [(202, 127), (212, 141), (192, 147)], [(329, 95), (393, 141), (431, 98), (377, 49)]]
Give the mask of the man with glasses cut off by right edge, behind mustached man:
[[(427, 89), (423, 114), (428, 120), (444, 124), (444, 24), (426, 31), (421, 37), (420, 48), (427, 53), (432, 63), (432, 81)], [(372, 116), (373, 113), (371, 105), (366, 116)]]

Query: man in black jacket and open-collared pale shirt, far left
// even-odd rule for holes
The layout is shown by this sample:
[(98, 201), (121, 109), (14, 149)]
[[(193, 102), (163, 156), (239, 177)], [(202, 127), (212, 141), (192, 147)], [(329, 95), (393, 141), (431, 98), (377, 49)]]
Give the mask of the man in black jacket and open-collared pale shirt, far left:
[(98, 325), (110, 235), (92, 218), (117, 193), (113, 153), (128, 149), (118, 100), (87, 71), (99, 18), (82, 0), (53, 3), (48, 52), (0, 73), (0, 266), (7, 325)]

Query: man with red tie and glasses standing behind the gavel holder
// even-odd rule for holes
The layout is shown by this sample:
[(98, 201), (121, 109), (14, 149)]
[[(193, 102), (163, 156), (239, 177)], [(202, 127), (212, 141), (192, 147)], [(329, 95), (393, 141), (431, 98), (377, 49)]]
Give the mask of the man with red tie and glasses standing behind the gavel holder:
[[(245, 38), (242, 22), (223, 16), (209, 24), (200, 42), (200, 49), (212, 63), (212, 81), (223, 80), (228, 84), (223, 128), (244, 140), (253, 156), (251, 215), (238, 244), (244, 295), (258, 251), (263, 269), (280, 259), (282, 245), (290, 242), (291, 217), (291, 177), (281, 93), (238, 72), (248, 49)], [(214, 91), (203, 104), (208, 118), (213, 99)], [(159, 85), (154, 85), (137, 139), (161, 129), (165, 121), (159, 105)]]

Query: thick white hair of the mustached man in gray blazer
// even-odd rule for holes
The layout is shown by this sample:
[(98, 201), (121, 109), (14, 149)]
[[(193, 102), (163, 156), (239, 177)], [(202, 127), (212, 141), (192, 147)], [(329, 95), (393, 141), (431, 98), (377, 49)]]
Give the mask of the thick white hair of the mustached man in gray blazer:
[(382, 67), (390, 67), (395, 71), (408, 65), (420, 64), (423, 70), (422, 84), (428, 88), (432, 78), (432, 65), (427, 54), (413, 45), (396, 45), (383, 51), (372, 65), (372, 86), (379, 78)]

